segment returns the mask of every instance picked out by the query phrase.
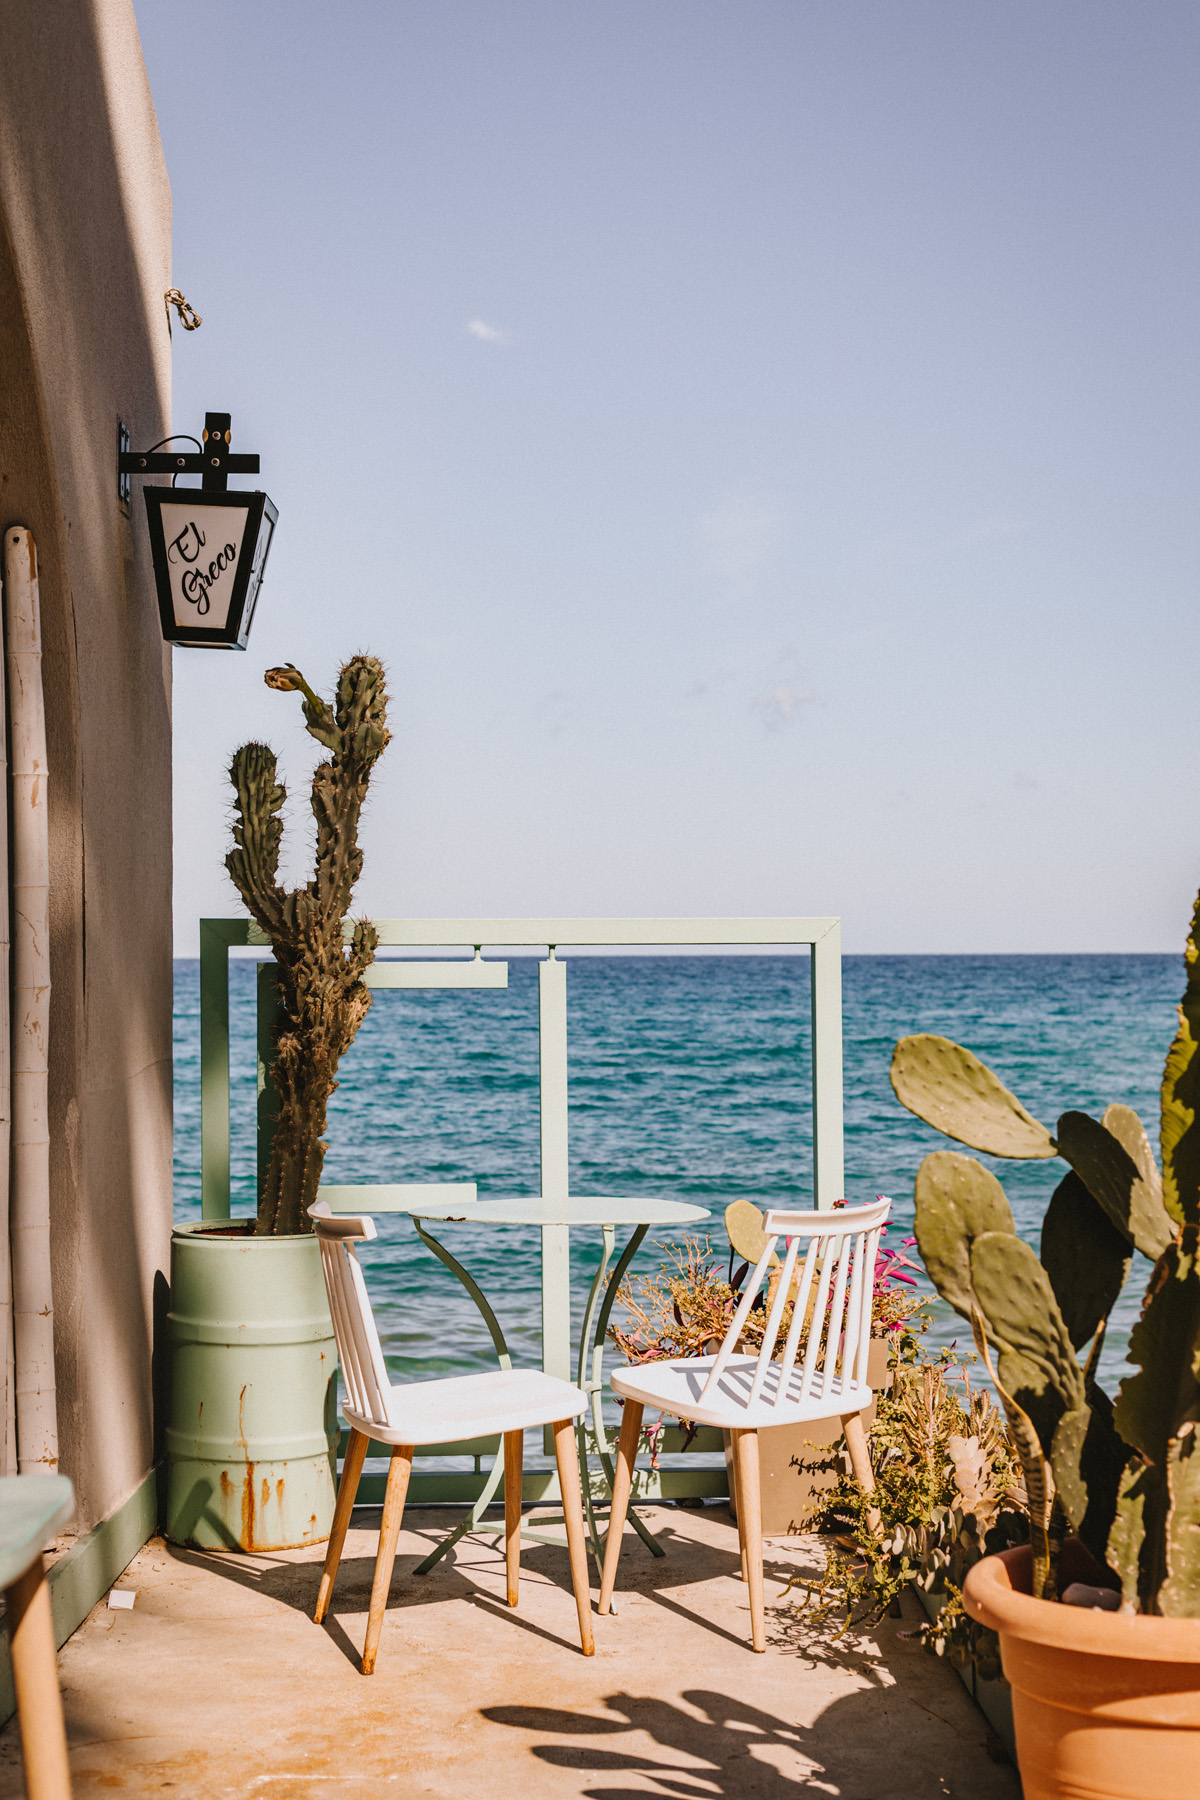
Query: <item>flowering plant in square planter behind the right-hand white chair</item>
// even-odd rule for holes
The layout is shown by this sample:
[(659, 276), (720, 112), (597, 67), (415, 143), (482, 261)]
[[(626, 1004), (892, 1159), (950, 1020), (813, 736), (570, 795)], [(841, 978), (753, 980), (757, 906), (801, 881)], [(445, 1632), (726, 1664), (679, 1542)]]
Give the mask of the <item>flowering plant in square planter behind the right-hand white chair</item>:
[[(624, 1319), (610, 1328), (610, 1336), (626, 1363), (705, 1355), (720, 1346), (738, 1309), (741, 1285), (766, 1244), (761, 1210), (750, 1201), (734, 1201), (725, 1208), (725, 1231), (729, 1237), (727, 1267), (712, 1258), (707, 1238), (703, 1242), (685, 1238), (682, 1246), (669, 1251), (667, 1260), (655, 1274), (635, 1276), (622, 1285), (617, 1300), (624, 1309)], [(894, 1287), (896, 1282), (910, 1285), (910, 1278), (903, 1273), (905, 1267), (910, 1264), (903, 1251), (880, 1249), (867, 1357), (867, 1379), (876, 1391), (889, 1381), (891, 1336), (900, 1332), (919, 1307), (916, 1294), (905, 1294)], [(775, 1269), (779, 1269), (777, 1256)], [(772, 1298), (774, 1278), (759, 1296), (761, 1303), (756, 1303), (747, 1319), (741, 1336), (743, 1348), (757, 1350), (761, 1346)], [(784, 1307), (779, 1330), (781, 1348), (788, 1321), (790, 1309)], [(869, 1427), (873, 1418), (874, 1406), (864, 1413), (864, 1426)], [(648, 1438), (653, 1449), (658, 1427), (651, 1426)], [(765, 1537), (786, 1537), (806, 1528), (810, 1516), (835, 1485), (840, 1445), (842, 1420), (838, 1417), (815, 1418), (802, 1426), (775, 1426), (759, 1435)], [(725, 1433), (727, 1465), (730, 1456), (729, 1433)]]

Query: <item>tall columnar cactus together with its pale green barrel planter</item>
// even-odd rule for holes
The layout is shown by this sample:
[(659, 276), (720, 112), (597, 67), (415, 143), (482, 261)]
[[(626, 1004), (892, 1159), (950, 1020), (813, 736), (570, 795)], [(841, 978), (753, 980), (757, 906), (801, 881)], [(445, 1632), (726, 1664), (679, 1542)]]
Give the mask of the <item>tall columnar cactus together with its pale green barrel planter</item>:
[(286, 792), (275, 756), (245, 743), (230, 767), (225, 868), (275, 952), (279, 1107), (257, 1219), (173, 1233), (166, 1530), (203, 1548), (281, 1550), (329, 1535), (336, 1352), (308, 1208), (376, 950), (374, 929), (360, 920), (347, 931), (345, 920), (362, 873), (358, 821), (389, 742), (383, 668), (351, 657), (331, 704), (290, 664), (268, 670), (266, 686), (302, 695), (308, 731), (329, 754), (313, 772), (313, 878), (290, 893), (279, 884)]

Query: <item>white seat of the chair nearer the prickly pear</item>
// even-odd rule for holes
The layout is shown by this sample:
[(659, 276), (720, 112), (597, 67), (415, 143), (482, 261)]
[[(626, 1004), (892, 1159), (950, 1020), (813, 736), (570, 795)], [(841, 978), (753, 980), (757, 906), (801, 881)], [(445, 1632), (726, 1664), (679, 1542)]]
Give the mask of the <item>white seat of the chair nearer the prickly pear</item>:
[(793, 1368), (784, 1393), (779, 1393), (779, 1363), (772, 1363), (763, 1391), (748, 1406), (757, 1357), (732, 1355), (714, 1391), (700, 1406), (700, 1391), (716, 1357), (689, 1355), (678, 1361), (626, 1363), (612, 1372), (615, 1393), (642, 1406), (653, 1406), (694, 1426), (721, 1426), (725, 1431), (765, 1431), (768, 1426), (797, 1426), (811, 1418), (840, 1418), (871, 1406), (874, 1393), (865, 1384), (847, 1386), (840, 1373), (828, 1382), (817, 1372), (801, 1399), (801, 1370)]

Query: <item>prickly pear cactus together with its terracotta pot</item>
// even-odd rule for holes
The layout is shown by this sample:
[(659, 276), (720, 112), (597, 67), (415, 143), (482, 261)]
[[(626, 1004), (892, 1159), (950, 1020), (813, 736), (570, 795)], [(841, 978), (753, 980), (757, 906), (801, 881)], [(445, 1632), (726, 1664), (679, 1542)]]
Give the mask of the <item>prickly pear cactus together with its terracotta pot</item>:
[[(925, 1267), (972, 1323), (1024, 1467), (1029, 1544), (972, 1568), (964, 1604), (1000, 1638), (1025, 1800), (1200, 1791), (1200, 902), (1186, 970), (1162, 1172), (1124, 1105), (1063, 1112), (1052, 1136), (946, 1039), (892, 1057), (898, 1098), (946, 1136), (1069, 1165), (1040, 1256), (982, 1163), (939, 1150), (916, 1181)], [(1097, 1363), (1133, 1249), (1153, 1271), (1114, 1404)]]

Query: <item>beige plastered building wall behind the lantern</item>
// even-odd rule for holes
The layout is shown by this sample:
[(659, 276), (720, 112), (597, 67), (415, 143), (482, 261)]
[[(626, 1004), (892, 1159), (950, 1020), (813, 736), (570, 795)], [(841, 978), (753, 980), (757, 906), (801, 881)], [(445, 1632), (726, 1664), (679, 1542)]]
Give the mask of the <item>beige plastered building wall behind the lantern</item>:
[[(153, 1463), (171, 1233), (171, 662), (115, 486), (169, 432), (171, 191), (130, 0), (0, 5), (0, 529), (41, 576), (50, 1184), (77, 1526)], [(158, 1325), (158, 1334), (162, 1325)], [(157, 1372), (157, 1364), (155, 1364)]]

